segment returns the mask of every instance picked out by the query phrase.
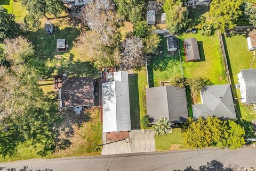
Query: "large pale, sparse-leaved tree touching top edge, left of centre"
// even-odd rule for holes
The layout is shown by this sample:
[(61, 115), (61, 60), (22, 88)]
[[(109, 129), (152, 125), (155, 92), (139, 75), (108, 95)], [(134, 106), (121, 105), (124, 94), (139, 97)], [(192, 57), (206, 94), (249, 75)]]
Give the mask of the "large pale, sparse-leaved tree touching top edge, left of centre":
[(122, 23), (114, 9), (110, 0), (97, 0), (87, 5), (81, 13), (82, 23), (101, 35), (102, 42), (106, 44), (116, 35), (118, 25)]

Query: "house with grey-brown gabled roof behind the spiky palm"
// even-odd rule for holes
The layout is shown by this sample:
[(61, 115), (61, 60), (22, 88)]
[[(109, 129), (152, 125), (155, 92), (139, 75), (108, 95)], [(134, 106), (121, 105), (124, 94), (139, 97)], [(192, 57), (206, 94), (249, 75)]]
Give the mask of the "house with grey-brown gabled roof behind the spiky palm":
[(160, 86), (146, 89), (147, 113), (155, 124), (161, 116), (171, 123), (184, 123), (188, 118), (185, 88)]

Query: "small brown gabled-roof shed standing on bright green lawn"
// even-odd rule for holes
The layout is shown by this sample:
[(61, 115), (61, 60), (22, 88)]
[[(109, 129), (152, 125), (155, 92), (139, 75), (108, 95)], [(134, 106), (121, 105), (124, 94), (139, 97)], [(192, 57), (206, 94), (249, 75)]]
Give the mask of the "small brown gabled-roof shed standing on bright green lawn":
[(184, 40), (184, 49), (186, 55), (186, 61), (198, 61), (200, 60), (199, 49), (197, 40), (195, 38), (189, 38)]

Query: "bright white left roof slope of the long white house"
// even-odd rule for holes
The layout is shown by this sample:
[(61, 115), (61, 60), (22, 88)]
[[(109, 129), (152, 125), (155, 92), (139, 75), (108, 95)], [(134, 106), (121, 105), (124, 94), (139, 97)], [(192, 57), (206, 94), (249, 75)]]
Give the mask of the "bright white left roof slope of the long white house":
[(117, 131), (115, 81), (102, 83), (103, 132)]

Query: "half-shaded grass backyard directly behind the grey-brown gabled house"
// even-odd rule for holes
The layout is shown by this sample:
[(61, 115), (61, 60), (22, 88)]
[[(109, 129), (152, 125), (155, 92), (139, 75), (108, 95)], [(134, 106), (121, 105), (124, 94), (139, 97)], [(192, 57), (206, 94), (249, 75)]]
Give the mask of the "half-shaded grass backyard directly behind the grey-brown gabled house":
[(181, 76), (180, 59), (178, 52), (171, 56), (167, 51), (166, 38), (161, 35), (161, 42), (158, 51), (162, 54), (153, 55), (148, 62), (148, 75), (150, 87), (160, 86), (161, 81), (170, 81), (174, 76)]

